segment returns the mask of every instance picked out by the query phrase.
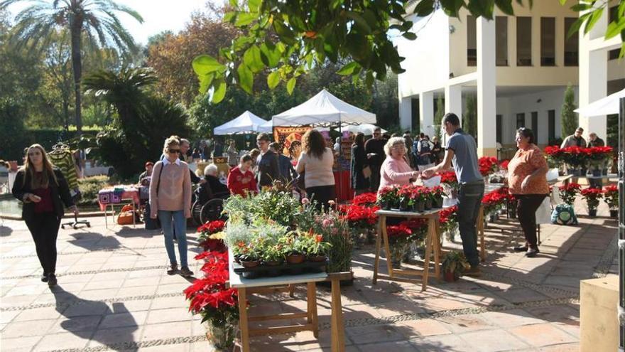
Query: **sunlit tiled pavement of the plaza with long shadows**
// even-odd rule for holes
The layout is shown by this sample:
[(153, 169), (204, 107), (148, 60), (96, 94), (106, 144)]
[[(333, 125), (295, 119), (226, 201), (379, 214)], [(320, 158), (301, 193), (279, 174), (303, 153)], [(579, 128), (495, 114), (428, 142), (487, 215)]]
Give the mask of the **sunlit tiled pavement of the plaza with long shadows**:
[[(188, 313), (188, 281), (165, 274), (162, 235), (140, 226), (107, 230), (102, 219), (90, 220), (92, 228), (60, 231), (55, 289), (39, 281), (26, 226), (2, 220), (1, 351), (212, 351), (200, 320)], [(487, 228), (483, 277), (433, 280), (426, 292), (415, 284), (371, 285), (372, 247), (357, 251), (357, 279), (343, 288), (347, 351), (577, 351), (579, 281), (616, 272), (616, 221), (582, 215), (577, 226), (543, 225), (536, 258), (511, 252), (521, 239), (509, 232), (515, 228), (506, 219)], [(189, 237), (192, 258), (195, 235)], [(317, 292), (319, 340), (308, 332), (260, 337), (253, 350), (329, 351), (329, 293)], [(254, 297), (250, 313), (304, 308), (303, 297), (303, 289), (296, 299)]]

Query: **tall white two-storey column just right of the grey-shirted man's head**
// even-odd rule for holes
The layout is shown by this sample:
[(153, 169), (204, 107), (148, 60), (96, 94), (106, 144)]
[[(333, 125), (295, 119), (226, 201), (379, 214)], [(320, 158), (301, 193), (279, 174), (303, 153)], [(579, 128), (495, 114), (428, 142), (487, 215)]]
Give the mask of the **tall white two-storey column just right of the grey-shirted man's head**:
[(477, 20), (477, 154), (496, 156), (495, 21)]

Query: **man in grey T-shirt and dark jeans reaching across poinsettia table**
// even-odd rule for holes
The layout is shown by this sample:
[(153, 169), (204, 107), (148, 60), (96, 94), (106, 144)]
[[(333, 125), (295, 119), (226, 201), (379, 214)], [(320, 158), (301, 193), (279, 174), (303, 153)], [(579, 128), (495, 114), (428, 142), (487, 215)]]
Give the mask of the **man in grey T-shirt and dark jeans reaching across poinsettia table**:
[(479, 173), (477, 164), (477, 145), (475, 139), (460, 128), (460, 119), (451, 112), (442, 118), (442, 124), (449, 139), (445, 146), (445, 159), (421, 173), (423, 178), (430, 178), (439, 171), (450, 169), (453, 164), (460, 190), (458, 192), (458, 227), (462, 238), (462, 250), (471, 269), (465, 270), (467, 276), (480, 276), (479, 255), (477, 252), (477, 226), (479, 206), (484, 196), (484, 178)]

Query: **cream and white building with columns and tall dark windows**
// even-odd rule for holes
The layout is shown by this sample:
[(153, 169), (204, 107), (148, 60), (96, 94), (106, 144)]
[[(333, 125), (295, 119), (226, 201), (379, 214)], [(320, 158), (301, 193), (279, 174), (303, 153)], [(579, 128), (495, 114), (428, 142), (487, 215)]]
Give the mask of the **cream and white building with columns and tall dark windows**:
[[(613, 10), (618, 1), (612, 1)], [(516, 16), (496, 9), (493, 21), (460, 18), (442, 10), (416, 17), (415, 41), (395, 40), (406, 58), (398, 76), (400, 124), (434, 133), (435, 100), (445, 112), (462, 120), (467, 100), (477, 100), (477, 144), (481, 156), (496, 156), (497, 147), (513, 148), (518, 127), (529, 127), (540, 146), (562, 136), (560, 110), (567, 85), (577, 105), (625, 87), (625, 60), (618, 60), (621, 41), (604, 41), (609, 11), (587, 36), (566, 38), (579, 14), (558, 1), (534, 1), (533, 7), (513, 2)], [(605, 117), (580, 117), (585, 135), (606, 139)]]

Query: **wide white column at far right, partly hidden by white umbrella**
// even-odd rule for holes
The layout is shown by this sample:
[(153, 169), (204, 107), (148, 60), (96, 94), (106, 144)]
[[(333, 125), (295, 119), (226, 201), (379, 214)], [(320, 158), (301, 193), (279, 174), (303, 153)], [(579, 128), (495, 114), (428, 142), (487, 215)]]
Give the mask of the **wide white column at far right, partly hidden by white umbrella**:
[[(602, 18), (597, 21), (592, 30), (584, 36), (580, 31), (580, 96), (579, 106), (585, 107), (595, 100), (607, 95), (607, 50), (589, 50), (589, 40), (603, 36), (607, 26), (607, 14), (604, 11)], [(607, 137), (607, 119), (605, 115), (594, 117), (580, 116), (580, 127), (584, 129), (584, 138), (595, 132), (605, 140)], [(565, 137), (565, 136), (562, 136)]]

